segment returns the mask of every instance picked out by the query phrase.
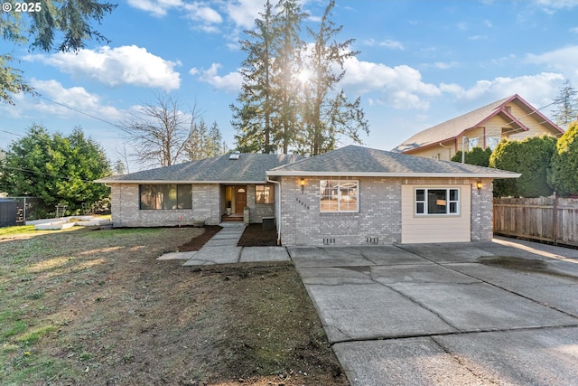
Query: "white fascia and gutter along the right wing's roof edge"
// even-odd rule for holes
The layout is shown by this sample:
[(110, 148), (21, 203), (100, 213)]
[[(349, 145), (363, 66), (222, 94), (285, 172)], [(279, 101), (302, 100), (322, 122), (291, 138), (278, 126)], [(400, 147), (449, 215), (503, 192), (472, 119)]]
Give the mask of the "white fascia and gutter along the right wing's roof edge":
[(267, 172), (267, 176), (294, 176), (294, 177), (429, 177), (429, 178), (518, 178), (519, 173), (372, 173), (372, 172)]

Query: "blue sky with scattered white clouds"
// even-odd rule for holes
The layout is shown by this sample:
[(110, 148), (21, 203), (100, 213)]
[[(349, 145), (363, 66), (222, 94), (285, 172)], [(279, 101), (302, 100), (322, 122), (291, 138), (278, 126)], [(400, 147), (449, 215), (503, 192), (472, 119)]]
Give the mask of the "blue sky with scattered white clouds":
[[(159, 92), (183, 109), (196, 104), (234, 146), (229, 105), (245, 58), (238, 41), (263, 4), (128, 0), (99, 27), (108, 44), (89, 42), (78, 54), (62, 54), (2, 42), (0, 51), (20, 59), (45, 99), (16, 95), (16, 106), (0, 105), (0, 147), (33, 123), (64, 134), (78, 125), (114, 161), (123, 139), (111, 124)], [(311, 15), (306, 23), (315, 27), (326, 5), (303, 1)], [(578, 89), (578, 0), (337, 0), (332, 20), (343, 25), (340, 40), (355, 39), (352, 48), (360, 52), (346, 62), (341, 87), (361, 97), (367, 146), (390, 150), (424, 128), (513, 94), (548, 106), (564, 80)], [(549, 117), (551, 108), (541, 111)]]

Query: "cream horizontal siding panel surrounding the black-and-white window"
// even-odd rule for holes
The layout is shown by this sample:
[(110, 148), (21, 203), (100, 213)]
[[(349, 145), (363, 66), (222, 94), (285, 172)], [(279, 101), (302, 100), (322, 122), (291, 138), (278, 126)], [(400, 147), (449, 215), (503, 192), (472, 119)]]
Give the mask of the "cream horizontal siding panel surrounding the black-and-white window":
[[(402, 243), (471, 241), (471, 185), (424, 186), (405, 184), (401, 188)], [(459, 189), (459, 215), (416, 215), (416, 189)]]

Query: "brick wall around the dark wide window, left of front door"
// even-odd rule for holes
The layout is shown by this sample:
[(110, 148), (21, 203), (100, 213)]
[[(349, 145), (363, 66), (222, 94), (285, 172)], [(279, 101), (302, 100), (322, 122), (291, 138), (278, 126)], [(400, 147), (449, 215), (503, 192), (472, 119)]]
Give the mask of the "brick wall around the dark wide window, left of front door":
[(115, 227), (158, 227), (192, 225), (205, 220), (219, 224), (221, 214), (218, 184), (193, 184), (192, 209), (140, 210), (138, 184), (111, 185), (111, 212)]

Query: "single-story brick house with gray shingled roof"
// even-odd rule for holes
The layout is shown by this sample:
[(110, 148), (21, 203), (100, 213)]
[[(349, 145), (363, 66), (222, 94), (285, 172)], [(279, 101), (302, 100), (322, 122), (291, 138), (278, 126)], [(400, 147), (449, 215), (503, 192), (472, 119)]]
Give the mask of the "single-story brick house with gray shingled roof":
[(115, 227), (218, 224), (230, 201), (250, 222), (275, 217), (284, 246), (366, 245), (490, 240), (493, 179), (520, 175), (362, 146), (298, 159), (223, 155), (98, 182)]

